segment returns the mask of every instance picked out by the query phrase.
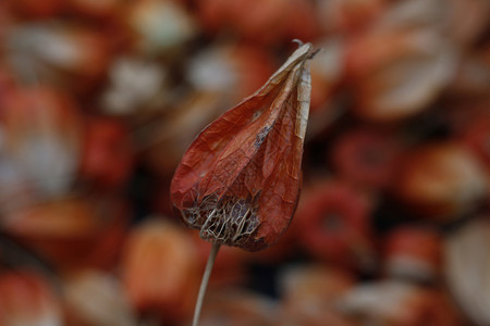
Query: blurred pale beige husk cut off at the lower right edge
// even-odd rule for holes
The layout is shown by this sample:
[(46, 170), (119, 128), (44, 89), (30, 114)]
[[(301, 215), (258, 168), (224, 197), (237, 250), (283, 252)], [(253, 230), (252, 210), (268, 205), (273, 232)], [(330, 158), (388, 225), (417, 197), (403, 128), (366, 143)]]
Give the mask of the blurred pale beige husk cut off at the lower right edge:
[(455, 299), (477, 325), (490, 324), (490, 222), (476, 220), (445, 242), (446, 277)]

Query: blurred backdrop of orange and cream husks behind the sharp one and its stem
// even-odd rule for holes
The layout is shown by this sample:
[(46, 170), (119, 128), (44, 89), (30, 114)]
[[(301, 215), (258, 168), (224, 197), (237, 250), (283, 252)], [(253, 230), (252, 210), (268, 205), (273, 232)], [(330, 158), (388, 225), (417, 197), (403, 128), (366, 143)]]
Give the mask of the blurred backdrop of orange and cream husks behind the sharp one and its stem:
[(0, 1), (0, 325), (189, 325), (172, 174), (297, 47), (303, 190), (201, 325), (490, 325), (488, 0)]

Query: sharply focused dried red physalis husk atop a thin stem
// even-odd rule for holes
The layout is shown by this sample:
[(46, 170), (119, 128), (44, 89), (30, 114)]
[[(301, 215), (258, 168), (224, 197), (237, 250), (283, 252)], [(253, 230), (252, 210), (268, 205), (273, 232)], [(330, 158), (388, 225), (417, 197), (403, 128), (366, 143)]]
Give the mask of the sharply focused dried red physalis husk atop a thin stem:
[(256, 93), (211, 123), (171, 184), (183, 221), (205, 240), (257, 251), (290, 224), (299, 195), (309, 110), (310, 43)]

